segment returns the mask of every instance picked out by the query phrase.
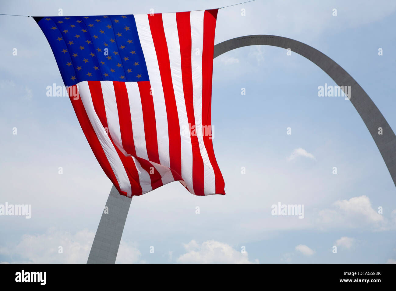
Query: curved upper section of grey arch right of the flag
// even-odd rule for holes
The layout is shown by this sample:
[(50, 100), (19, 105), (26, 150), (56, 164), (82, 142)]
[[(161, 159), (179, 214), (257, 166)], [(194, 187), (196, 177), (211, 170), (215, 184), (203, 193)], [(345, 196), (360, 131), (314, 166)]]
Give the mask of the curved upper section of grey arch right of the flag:
[[(285, 49), (290, 48), (291, 51), (306, 57), (324, 70), (338, 86), (350, 86), (350, 102), (352, 102), (352, 105), (358, 111), (364, 124), (366, 124), (371, 137), (373, 137), (385, 161), (386, 167), (388, 167), (393, 183), (396, 186), (396, 136), (369, 95), (367, 95), (350, 74), (317, 49), (302, 42), (298, 42), (297, 40), (276, 35), (258, 34), (226, 40), (225, 42), (215, 45), (213, 58), (232, 49), (254, 45), (278, 46)], [(383, 129), (382, 135), (378, 134), (379, 127)]]

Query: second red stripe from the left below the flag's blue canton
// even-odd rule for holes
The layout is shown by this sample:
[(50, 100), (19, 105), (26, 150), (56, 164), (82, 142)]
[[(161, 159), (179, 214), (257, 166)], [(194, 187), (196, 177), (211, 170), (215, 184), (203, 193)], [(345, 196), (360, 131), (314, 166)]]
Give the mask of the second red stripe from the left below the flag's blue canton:
[[(124, 166), (124, 169), (128, 176), (129, 182), (131, 183), (132, 195), (141, 195), (142, 188), (140, 186), (139, 173), (137, 172), (135, 162), (133, 162), (132, 157), (125, 156), (118, 149), (118, 147), (114, 144), (113, 139), (110, 135), (110, 132), (108, 129), (109, 126), (107, 124), (106, 109), (105, 109), (105, 102), (103, 99), (101, 82), (100, 81), (88, 81), (88, 86), (89, 86), (89, 91), (91, 92), (91, 96), (92, 96), (93, 108), (95, 109), (95, 112), (98, 115), (99, 120), (101, 121), (103, 127), (107, 128), (110, 141), (113, 144), (114, 148), (116, 149), (116, 152), (117, 152), (118, 156), (120, 157), (122, 165)], [(129, 104), (128, 104), (128, 108), (129, 108)]]

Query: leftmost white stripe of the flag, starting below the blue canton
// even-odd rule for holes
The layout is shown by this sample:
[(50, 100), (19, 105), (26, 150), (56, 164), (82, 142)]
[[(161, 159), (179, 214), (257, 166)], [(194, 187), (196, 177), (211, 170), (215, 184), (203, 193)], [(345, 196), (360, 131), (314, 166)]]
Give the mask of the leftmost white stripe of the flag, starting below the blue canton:
[(97, 116), (92, 103), (91, 92), (87, 81), (83, 81), (77, 84), (81, 101), (84, 105), (85, 111), (87, 112), (89, 122), (96, 133), (99, 143), (101, 144), (103, 151), (105, 152), (106, 158), (110, 163), (111, 169), (116, 176), (120, 189), (127, 193), (128, 197), (131, 197), (131, 183), (129, 182), (128, 175), (126, 174), (124, 165), (122, 164), (120, 157), (118, 156), (116, 149), (114, 148), (109, 136), (107, 135), (105, 128), (103, 127), (99, 117)]

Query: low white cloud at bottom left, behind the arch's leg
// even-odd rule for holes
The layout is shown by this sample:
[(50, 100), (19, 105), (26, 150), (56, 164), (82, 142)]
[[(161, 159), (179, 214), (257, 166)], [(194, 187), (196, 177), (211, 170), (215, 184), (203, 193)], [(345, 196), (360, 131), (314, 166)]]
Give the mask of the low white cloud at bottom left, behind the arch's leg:
[[(0, 254), (13, 258), (11, 263), (85, 264), (95, 233), (87, 229), (75, 234), (50, 228), (45, 234), (25, 234), (16, 245), (1, 247)], [(59, 247), (63, 253), (59, 253)], [(121, 240), (117, 263), (137, 262), (139, 250)], [(15, 259), (14, 259), (15, 258)]]

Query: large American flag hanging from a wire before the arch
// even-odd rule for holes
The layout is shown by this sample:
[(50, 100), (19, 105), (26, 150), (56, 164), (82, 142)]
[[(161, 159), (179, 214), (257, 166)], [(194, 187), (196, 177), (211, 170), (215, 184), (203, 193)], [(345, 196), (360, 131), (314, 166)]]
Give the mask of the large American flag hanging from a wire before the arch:
[(172, 181), (195, 195), (225, 194), (208, 134), (216, 17), (217, 9), (34, 17), (120, 194)]

